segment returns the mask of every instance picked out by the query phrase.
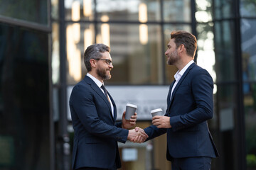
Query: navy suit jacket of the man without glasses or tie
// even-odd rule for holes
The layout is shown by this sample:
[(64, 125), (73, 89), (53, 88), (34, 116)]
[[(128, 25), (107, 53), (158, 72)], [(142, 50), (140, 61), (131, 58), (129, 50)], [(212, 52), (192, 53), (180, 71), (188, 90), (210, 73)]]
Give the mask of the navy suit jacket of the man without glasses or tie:
[(170, 100), (167, 96), (166, 116), (172, 128), (145, 129), (149, 139), (167, 132), (168, 160), (182, 157), (217, 157), (218, 151), (208, 130), (207, 120), (213, 118), (213, 79), (206, 69), (191, 64), (176, 85)]

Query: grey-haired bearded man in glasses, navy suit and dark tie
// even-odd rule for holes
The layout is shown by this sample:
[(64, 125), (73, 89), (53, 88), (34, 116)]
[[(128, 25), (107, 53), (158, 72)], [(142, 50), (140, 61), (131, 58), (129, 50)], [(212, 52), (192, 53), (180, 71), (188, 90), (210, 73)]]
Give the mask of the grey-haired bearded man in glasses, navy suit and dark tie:
[(87, 75), (76, 84), (70, 96), (70, 112), (75, 130), (72, 169), (118, 169), (121, 167), (117, 141), (143, 142), (143, 130), (127, 130), (136, 124), (130, 120), (115, 123), (117, 107), (104, 86), (113, 69), (110, 47), (90, 45), (84, 54)]

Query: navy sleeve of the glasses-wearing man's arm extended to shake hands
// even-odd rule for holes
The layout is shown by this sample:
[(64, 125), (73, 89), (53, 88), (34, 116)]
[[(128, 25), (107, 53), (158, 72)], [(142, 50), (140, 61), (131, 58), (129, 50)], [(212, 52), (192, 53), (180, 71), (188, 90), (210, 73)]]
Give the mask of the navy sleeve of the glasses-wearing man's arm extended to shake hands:
[[(100, 120), (95, 106), (95, 94), (84, 86), (75, 86), (70, 96), (70, 107), (75, 115), (78, 116), (80, 123), (90, 134), (112, 138), (119, 142), (126, 142), (128, 130), (117, 128), (115, 125), (109, 125)], [(106, 111), (105, 111), (106, 112)]]

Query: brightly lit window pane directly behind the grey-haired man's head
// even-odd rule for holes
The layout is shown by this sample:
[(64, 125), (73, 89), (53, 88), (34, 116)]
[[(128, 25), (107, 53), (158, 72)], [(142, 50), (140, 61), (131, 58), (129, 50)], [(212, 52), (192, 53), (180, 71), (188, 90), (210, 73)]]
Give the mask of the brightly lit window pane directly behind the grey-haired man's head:
[(83, 54), (95, 43), (93, 24), (70, 23), (66, 27), (67, 82), (76, 84), (86, 74)]

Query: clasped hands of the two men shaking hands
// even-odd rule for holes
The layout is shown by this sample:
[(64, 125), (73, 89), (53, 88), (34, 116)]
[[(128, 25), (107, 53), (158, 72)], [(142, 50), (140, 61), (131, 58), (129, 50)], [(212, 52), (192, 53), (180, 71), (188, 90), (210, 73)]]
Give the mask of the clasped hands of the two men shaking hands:
[(142, 128), (136, 127), (133, 130), (129, 130), (127, 140), (134, 143), (142, 143), (148, 137), (149, 136), (146, 135), (146, 132)]

